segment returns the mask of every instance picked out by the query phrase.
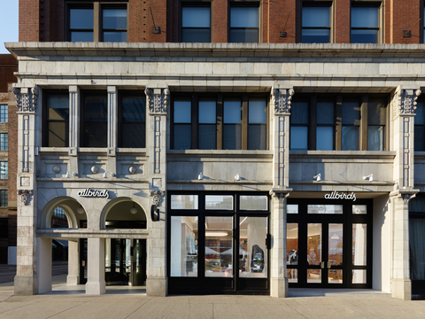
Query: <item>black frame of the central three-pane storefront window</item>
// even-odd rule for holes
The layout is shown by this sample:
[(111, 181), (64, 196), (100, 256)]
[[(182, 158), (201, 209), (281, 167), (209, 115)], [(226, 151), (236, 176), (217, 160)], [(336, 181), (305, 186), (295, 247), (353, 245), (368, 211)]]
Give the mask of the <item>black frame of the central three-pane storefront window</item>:
[[(171, 209), (172, 195), (197, 195), (198, 209), (194, 210), (174, 210)], [(233, 210), (213, 210), (205, 209), (205, 195), (233, 195)], [(267, 196), (267, 211), (246, 211), (239, 210), (240, 196)], [(170, 294), (270, 294), (270, 198), (266, 192), (172, 192), (167, 193), (168, 214), (166, 218), (167, 227), (167, 250), (166, 250), (166, 276), (168, 277), (168, 292)], [(171, 217), (172, 216), (197, 216), (198, 217), (198, 268), (197, 277), (177, 277), (171, 276)], [(232, 217), (233, 221), (233, 277), (206, 277), (205, 276), (205, 217)], [(239, 234), (240, 217), (267, 217), (267, 277), (266, 278), (240, 278), (239, 277)]]

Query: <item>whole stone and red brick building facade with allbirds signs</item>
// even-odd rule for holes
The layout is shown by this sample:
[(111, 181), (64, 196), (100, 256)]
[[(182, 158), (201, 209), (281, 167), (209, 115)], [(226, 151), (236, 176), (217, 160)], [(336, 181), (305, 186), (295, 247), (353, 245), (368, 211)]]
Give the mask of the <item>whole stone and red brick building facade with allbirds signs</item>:
[(17, 294), (421, 292), (422, 2), (35, 3)]

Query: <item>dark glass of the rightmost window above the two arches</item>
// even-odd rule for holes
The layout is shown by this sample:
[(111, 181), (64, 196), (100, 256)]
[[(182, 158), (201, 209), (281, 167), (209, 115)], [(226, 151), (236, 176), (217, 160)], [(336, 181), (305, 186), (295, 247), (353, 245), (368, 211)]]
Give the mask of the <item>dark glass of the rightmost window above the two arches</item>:
[(146, 147), (146, 98), (121, 97), (119, 147)]

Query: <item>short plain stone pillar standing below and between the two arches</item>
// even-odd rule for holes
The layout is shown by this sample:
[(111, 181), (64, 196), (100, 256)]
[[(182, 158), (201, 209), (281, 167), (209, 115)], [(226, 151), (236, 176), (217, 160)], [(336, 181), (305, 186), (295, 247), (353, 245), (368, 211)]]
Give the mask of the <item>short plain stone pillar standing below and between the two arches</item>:
[(87, 294), (106, 292), (104, 283), (104, 238), (87, 239)]

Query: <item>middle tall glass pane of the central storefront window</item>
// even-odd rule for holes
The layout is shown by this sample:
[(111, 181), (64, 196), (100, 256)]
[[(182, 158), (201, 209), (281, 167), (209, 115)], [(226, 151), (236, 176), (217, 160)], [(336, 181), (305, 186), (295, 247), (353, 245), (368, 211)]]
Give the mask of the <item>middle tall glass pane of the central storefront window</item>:
[(205, 276), (233, 277), (233, 217), (205, 217)]

